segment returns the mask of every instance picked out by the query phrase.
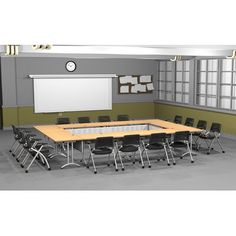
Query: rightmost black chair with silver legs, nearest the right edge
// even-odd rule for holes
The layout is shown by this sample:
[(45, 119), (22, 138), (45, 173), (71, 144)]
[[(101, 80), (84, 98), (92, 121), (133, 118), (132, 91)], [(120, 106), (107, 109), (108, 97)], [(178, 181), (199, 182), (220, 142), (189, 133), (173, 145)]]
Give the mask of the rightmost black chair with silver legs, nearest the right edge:
[(207, 154), (209, 155), (211, 150), (213, 149), (213, 145), (215, 143), (215, 141), (218, 143), (218, 145), (220, 146), (220, 149), (222, 151), (222, 153), (225, 153), (221, 143), (220, 143), (220, 132), (221, 132), (221, 124), (219, 123), (212, 123), (210, 131), (206, 131), (206, 132), (202, 132), (199, 135), (199, 142), (198, 142), (198, 146), (197, 146), (197, 150), (200, 149), (201, 143), (204, 140), (206, 145), (207, 145)]

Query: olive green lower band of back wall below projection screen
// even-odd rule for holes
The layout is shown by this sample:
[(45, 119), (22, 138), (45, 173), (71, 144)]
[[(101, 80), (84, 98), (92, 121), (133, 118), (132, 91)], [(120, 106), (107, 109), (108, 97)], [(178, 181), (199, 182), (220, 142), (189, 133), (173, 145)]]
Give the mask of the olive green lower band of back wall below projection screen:
[(155, 117), (153, 102), (144, 103), (115, 103), (112, 110), (63, 112), (63, 113), (34, 113), (33, 107), (3, 108), (4, 128), (14, 125), (55, 124), (56, 118), (70, 117), (71, 122), (76, 122), (78, 116), (89, 116), (92, 121), (97, 121), (98, 115), (110, 115), (116, 120), (118, 114), (128, 114), (130, 119), (147, 119)]

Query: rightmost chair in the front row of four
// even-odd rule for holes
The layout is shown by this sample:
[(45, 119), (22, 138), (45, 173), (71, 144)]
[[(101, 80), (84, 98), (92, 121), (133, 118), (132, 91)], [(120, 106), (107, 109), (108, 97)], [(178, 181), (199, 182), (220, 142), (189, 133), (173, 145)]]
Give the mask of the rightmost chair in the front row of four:
[(170, 151), (174, 155), (175, 152), (172, 151), (172, 148), (173, 148), (173, 150), (179, 149), (179, 148), (186, 148), (187, 152), (182, 154), (180, 156), (180, 159), (182, 159), (185, 155), (189, 154), (190, 159), (191, 159), (191, 163), (194, 163), (192, 152), (191, 152), (191, 149), (190, 149), (189, 137), (190, 137), (190, 133), (188, 131), (176, 132), (174, 134), (174, 140), (170, 143)]

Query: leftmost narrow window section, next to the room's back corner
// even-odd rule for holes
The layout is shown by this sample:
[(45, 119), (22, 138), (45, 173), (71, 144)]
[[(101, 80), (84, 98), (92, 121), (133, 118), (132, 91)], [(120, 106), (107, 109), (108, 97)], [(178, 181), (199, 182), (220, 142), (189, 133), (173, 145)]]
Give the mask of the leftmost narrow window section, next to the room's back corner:
[(173, 101), (173, 68), (171, 61), (159, 62), (158, 98), (159, 100)]

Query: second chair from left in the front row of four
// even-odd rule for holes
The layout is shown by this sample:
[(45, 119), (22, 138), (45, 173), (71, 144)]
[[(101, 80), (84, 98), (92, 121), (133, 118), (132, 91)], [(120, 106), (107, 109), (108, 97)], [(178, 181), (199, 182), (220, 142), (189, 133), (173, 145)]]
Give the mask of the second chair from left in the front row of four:
[(121, 141), (121, 145), (119, 146), (118, 143), (116, 143), (116, 145), (117, 145), (116, 155), (119, 156), (122, 170), (124, 170), (125, 168), (122, 161), (123, 157), (121, 156), (121, 153), (125, 153), (125, 154), (132, 153), (133, 164), (135, 164), (135, 154), (137, 151), (139, 152), (142, 168), (144, 168), (144, 162), (143, 162), (143, 157), (142, 157), (141, 148), (140, 148), (140, 135), (136, 135), (136, 134), (125, 135)]

